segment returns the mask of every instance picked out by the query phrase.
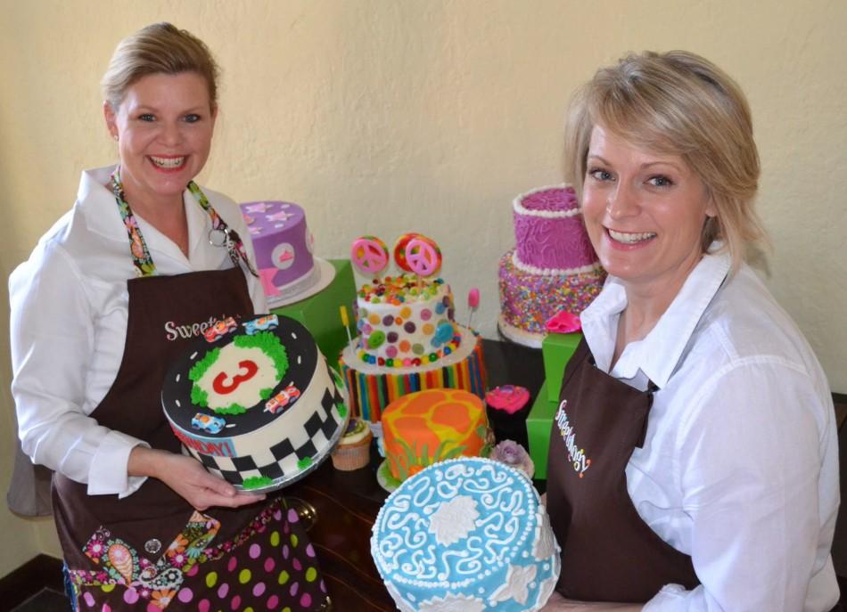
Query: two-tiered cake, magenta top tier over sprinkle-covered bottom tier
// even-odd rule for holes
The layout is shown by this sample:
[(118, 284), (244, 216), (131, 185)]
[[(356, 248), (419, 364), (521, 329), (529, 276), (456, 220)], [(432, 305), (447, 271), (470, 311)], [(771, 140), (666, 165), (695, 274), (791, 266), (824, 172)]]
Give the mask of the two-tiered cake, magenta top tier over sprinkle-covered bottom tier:
[(603, 287), (573, 188), (540, 187), (513, 202), (515, 248), (499, 264), (500, 317), (507, 339), (540, 347), (547, 319), (580, 314)]

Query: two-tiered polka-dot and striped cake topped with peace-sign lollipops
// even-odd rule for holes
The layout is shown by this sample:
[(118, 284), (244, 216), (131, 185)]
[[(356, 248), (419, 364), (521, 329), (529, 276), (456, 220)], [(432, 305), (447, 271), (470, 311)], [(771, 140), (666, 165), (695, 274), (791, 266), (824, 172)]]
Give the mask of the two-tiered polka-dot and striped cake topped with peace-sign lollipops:
[[(358, 273), (358, 336), (341, 352), (340, 364), (353, 411), (379, 423), (388, 404), (415, 391), (459, 388), (482, 397), (481, 338), (456, 323), (452, 290), (438, 275), (442, 258), (435, 241), (406, 233), (392, 253), (379, 238), (362, 236), (353, 241), (350, 259)], [(392, 261), (396, 274), (386, 273)], [(473, 312), (478, 290), (468, 303)], [(346, 316), (342, 309), (342, 322)]]

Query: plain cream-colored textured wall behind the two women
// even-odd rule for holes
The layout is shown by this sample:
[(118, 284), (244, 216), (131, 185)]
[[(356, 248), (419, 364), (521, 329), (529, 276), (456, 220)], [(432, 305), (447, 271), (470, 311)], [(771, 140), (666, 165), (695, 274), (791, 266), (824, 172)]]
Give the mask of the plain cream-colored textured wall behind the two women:
[[(322, 256), (344, 255), (363, 233), (389, 243), (412, 230), (432, 236), (459, 302), (481, 289), (474, 322), (489, 337), (498, 257), (514, 244), (511, 200), (561, 180), (573, 89), (630, 50), (702, 53), (752, 105), (761, 214), (776, 247), (769, 286), (833, 390), (847, 393), (843, 0), (2, 4), (0, 275), (70, 207), (80, 170), (115, 159), (97, 84), (116, 43), (171, 20), (206, 40), (224, 68), (201, 182), (236, 200), (300, 202)], [(5, 355), (3, 365), (6, 389)], [(3, 402), (4, 489), (12, 437), (5, 391)], [(0, 575), (19, 557), (58, 554), (49, 522), (4, 510), (0, 521), (0, 548), (20, 551), (4, 553)]]

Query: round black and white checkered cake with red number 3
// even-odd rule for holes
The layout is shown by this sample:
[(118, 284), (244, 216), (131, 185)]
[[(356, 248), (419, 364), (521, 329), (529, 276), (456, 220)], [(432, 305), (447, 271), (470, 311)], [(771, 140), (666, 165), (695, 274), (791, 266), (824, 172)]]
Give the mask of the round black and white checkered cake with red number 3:
[(337, 373), (300, 322), (227, 319), (177, 360), (162, 405), (187, 453), (237, 488), (270, 491), (323, 461), (347, 425)]

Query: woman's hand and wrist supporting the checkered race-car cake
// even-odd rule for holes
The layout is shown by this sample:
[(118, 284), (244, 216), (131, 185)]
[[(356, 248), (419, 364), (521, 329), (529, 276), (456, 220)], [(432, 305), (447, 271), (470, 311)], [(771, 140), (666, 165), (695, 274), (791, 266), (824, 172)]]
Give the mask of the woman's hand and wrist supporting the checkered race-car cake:
[(237, 508), (265, 499), (265, 495), (239, 493), (234, 486), (207, 472), (199, 461), (191, 457), (146, 446), (132, 449), (127, 471), (130, 476), (159, 478), (196, 510), (212, 506)]

